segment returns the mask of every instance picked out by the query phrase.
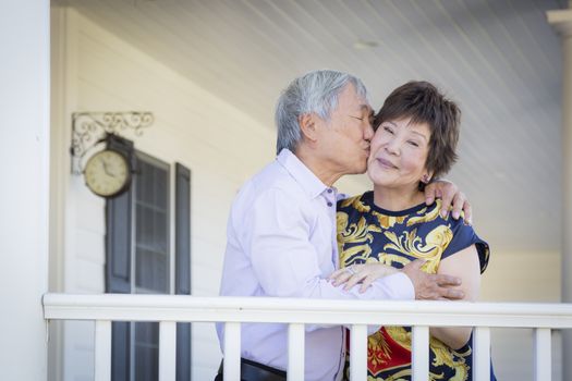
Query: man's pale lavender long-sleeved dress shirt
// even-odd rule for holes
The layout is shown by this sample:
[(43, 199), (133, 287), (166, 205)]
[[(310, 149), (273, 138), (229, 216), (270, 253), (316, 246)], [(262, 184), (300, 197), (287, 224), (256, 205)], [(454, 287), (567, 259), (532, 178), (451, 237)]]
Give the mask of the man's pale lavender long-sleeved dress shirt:
[[(413, 299), (403, 273), (382, 278), (363, 294), (326, 279), (339, 265), (337, 190), (319, 181), (290, 150), (252, 177), (231, 209), (220, 295), (322, 299)], [(223, 324), (217, 324), (223, 343)], [(242, 324), (242, 357), (285, 370), (288, 325)], [(305, 380), (341, 378), (342, 327), (306, 327)]]

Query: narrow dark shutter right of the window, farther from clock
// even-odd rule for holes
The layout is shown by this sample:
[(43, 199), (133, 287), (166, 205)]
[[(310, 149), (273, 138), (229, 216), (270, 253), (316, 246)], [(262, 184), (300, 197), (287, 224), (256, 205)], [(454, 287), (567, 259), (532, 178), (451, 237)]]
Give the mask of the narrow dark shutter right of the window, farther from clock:
[[(191, 170), (175, 163), (175, 290), (191, 294)], [(177, 324), (177, 381), (191, 380), (191, 324)]]

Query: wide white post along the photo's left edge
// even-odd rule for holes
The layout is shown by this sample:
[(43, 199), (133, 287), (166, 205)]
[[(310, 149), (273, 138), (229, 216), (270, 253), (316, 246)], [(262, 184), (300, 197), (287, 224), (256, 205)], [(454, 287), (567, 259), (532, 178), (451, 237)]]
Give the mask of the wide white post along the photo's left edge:
[(47, 379), (50, 2), (0, 1), (0, 369)]

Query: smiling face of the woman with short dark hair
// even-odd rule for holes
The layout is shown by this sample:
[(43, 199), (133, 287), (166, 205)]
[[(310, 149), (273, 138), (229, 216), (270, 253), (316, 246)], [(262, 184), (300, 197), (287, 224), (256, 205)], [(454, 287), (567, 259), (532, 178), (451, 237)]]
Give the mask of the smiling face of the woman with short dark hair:
[(382, 122), (372, 139), (367, 174), (375, 185), (418, 185), (430, 177), (425, 169), (430, 130), (427, 123), (410, 124), (411, 118)]

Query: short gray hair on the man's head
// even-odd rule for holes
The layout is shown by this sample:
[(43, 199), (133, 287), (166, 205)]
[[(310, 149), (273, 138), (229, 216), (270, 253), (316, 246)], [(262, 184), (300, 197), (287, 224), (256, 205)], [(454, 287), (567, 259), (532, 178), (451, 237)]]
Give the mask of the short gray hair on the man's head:
[(276, 106), (277, 153), (283, 148), (295, 152), (302, 139), (300, 116), (314, 112), (329, 121), (331, 112), (338, 106), (338, 96), (350, 83), (360, 97), (367, 98), (367, 90), (362, 81), (348, 73), (318, 70), (292, 81)]

